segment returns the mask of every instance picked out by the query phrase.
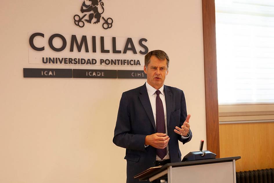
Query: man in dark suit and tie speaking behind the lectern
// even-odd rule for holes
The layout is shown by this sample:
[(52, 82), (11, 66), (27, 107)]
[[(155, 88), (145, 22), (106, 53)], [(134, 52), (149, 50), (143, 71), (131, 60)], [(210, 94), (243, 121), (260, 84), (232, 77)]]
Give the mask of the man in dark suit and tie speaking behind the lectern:
[(164, 85), (169, 58), (162, 50), (145, 56), (147, 82), (121, 97), (113, 143), (126, 148), (127, 183), (134, 175), (169, 162), (180, 162), (179, 143), (190, 141), (184, 92)]

